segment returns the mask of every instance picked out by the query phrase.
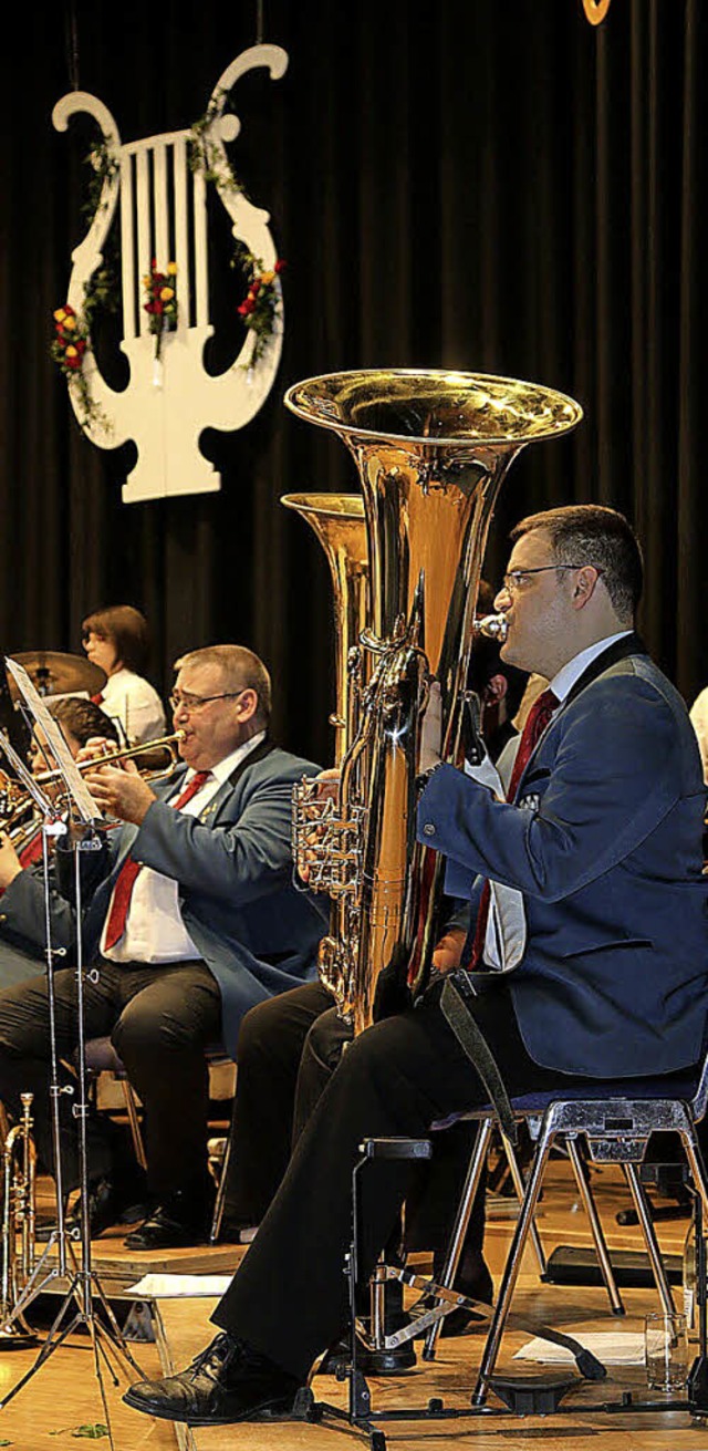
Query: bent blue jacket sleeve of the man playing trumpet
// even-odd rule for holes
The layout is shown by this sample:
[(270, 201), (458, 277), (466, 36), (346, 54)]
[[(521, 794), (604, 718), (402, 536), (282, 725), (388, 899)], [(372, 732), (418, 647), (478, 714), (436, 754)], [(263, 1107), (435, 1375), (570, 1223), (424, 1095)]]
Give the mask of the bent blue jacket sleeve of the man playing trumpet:
[(290, 876), (293, 784), (300, 776), (258, 784), (235, 824), (209, 826), (154, 801), (132, 855), (186, 892), (228, 898), (234, 907), (255, 901)]

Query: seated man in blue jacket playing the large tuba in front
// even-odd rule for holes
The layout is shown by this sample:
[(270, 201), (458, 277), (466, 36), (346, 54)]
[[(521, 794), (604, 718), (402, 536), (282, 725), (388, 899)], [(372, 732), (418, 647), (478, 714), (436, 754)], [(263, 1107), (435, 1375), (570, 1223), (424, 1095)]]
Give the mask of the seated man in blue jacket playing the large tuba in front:
[[(487, 878), (524, 908), (525, 949), (505, 974), (492, 971), (503, 942), (487, 939), (477, 913), (470, 1013), (511, 1094), (672, 1075), (696, 1064), (704, 1043), (705, 789), (686, 707), (634, 633), (640, 547), (622, 515), (596, 505), (531, 515), (512, 541), (496, 596), (502, 654), (546, 676), (553, 695), (530, 714), (506, 800), (440, 762), (437, 692), (419, 762), (418, 836), (447, 858), (447, 891), (477, 910)], [(342, 1053), (215, 1310), (219, 1333), (186, 1371), (133, 1386), (128, 1405), (199, 1425), (292, 1407), (347, 1325), (361, 1140), (427, 1136), (489, 1101), (441, 1008), (445, 988)], [(405, 1196), (390, 1168), (366, 1206), (364, 1277)]]

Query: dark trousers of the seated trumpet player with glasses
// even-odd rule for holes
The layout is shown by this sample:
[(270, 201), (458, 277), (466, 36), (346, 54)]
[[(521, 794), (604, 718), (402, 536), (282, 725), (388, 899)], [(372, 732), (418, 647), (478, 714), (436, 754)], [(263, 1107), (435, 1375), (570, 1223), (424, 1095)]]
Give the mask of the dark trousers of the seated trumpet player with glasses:
[[(209, 1074), (205, 1048), (219, 1042), (221, 994), (203, 962), (96, 965), (84, 974), (86, 1039), (110, 1036), (138, 1091), (147, 1119), (148, 1188), (162, 1199), (205, 1180)], [(54, 974), (57, 1055), (71, 1062), (78, 1043), (77, 975)], [(49, 995), (45, 975), (0, 992), (0, 1098), (13, 1114), (32, 1093), (38, 1152), (54, 1164), (49, 1109)], [(62, 1081), (75, 1077), (62, 1068)], [(65, 1188), (78, 1184), (74, 1096), (59, 1094)], [(87, 1120), (88, 1177), (110, 1172), (112, 1140), (96, 1116)]]

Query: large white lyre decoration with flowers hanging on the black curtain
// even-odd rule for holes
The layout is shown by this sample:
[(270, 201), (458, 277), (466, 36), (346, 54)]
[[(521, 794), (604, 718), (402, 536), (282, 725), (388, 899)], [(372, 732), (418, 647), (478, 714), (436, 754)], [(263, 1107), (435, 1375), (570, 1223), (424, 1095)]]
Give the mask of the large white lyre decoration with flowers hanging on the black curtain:
[[(271, 80), (287, 70), (287, 54), (279, 45), (254, 45), (223, 71), (206, 110), (202, 139), (209, 148), (209, 178), (232, 221), (232, 234), (270, 271), (277, 251), (268, 229), (270, 213), (238, 190), (225, 142), (241, 131), (235, 115), (223, 115), (229, 91), (247, 71), (267, 67)], [(84, 289), (102, 266), (102, 248), (120, 200), (120, 350), (129, 363), (128, 387), (110, 387), (99, 370), (88, 344), (84, 377), (91, 408), (81, 406), (78, 389), (68, 392), (77, 419), (99, 448), (118, 448), (132, 440), (138, 460), (123, 485), (126, 503), (177, 493), (202, 493), (221, 488), (221, 474), (199, 448), (205, 428), (226, 432), (242, 428), (263, 406), (273, 386), (283, 345), (283, 299), (276, 277), (277, 306), (267, 348), (252, 366), (257, 338), (247, 329), (234, 363), (221, 374), (203, 369), (203, 351), (213, 334), (209, 321), (206, 180), (189, 165), (189, 131), (174, 131), (147, 141), (122, 145), (118, 126), (96, 96), (71, 91), (52, 112), (57, 131), (65, 131), (70, 116), (87, 112), (103, 132), (103, 142), (116, 167), (106, 168), (100, 200), (91, 225), (74, 250), (67, 302), (81, 315)], [(177, 264), (177, 326), (162, 338), (155, 360), (155, 337), (144, 309), (142, 277), (151, 260), (165, 271)]]

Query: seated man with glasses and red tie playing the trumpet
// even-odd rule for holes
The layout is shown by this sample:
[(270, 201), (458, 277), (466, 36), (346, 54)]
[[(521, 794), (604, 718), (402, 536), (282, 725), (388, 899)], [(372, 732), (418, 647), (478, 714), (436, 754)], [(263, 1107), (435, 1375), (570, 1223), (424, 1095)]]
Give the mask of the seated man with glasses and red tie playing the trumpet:
[[(251, 650), (212, 646), (177, 662), (171, 696), (180, 766), (149, 784), (132, 760), (84, 773), (107, 818), (97, 853), (81, 853), (86, 1035), (110, 1035), (145, 1109), (154, 1212), (126, 1244), (164, 1249), (203, 1242), (213, 1188), (206, 1165), (205, 1051), (234, 1055), (244, 1013), (315, 971), (325, 911), (292, 882), (293, 785), (312, 762), (267, 734), (270, 678)], [(102, 741), (80, 755), (91, 757)], [(73, 858), (64, 856), (67, 895)], [(59, 866), (61, 871), (61, 866)], [(59, 881), (59, 885), (64, 885)], [(59, 1058), (75, 1048), (75, 974), (55, 972)], [(35, 1094), (38, 1146), (52, 1162), (48, 994), (35, 978), (0, 994), (0, 1098)], [(62, 1164), (78, 1183), (71, 1101), (61, 1096)], [(110, 1145), (91, 1120), (91, 1229), (125, 1206)]]

